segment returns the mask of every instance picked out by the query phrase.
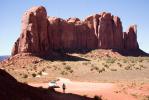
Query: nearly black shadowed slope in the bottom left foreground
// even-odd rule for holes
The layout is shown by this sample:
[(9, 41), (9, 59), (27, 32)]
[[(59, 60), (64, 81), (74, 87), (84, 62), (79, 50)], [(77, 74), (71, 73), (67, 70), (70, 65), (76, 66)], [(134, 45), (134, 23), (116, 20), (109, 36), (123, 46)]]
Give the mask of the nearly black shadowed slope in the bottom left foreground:
[(70, 93), (60, 93), (51, 89), (35, 88), (18, 82), (10, 74), (0, 69), (0, 100), (101, 100)]

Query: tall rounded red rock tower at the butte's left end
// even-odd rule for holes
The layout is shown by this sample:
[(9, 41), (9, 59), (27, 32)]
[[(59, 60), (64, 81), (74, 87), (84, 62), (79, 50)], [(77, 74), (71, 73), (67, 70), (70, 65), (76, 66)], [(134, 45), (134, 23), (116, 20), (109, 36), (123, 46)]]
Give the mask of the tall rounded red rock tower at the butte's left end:
[(22, 31), (14, 45), (12, 55), (30, 52), (42, 55), (49, 50), (47, 13), (44, 7), (32, 7), (22, 18)]

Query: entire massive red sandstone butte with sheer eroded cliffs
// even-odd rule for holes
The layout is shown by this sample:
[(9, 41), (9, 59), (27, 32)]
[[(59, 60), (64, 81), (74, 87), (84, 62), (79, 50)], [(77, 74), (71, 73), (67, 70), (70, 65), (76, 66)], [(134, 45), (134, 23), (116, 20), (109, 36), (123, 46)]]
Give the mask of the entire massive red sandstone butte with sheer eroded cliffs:
[(88, 49), (137, 50), (137, 29), (133, 25), (123, 32), (119, 17), (110, 13), (67, 20), (48, 17), (42, 6), (27, 10), (22, 18), (22, 31), (12, 55), (33, 53), (49, 55), (52, 51), (77, 52)]

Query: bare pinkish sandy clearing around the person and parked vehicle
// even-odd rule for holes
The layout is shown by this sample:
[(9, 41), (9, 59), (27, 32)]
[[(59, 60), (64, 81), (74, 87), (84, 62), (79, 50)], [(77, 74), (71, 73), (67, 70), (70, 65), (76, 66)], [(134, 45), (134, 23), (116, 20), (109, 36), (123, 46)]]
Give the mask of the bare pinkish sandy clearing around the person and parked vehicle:
[[(66, 93), (73, 93), (82, 96), (86, 95), (88, 97), (94, 97), (97, 95), (101, 96), (104, 100), (138, 100), (136, 95), (149, 96), (149, 85), (133, 88), (114, 83), (77, 82), (64, 78), (59, 79), (60, 80), (57, 82), (57, 85), (60, 86), (60, 88), (56, 88), (56, 91), (59, 92), (62, 92), (61, 86), (65, 83)], [(48, 87), (48, 83), (29, 83), (29, 85), (35, 87), (42, 86), (44, 88)]]

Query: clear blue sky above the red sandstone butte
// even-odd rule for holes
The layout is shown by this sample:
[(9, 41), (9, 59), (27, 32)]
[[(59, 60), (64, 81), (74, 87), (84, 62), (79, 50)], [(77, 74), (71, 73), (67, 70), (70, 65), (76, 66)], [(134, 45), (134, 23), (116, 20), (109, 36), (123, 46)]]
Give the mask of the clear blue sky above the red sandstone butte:
[(49, 16), (61, 18), (86, 16), (103, 11), (119, 16), (125, 31), (129, 25), (138, 25), (138, 42), (149, 53), (149, 0), (1, 0), (0, 1), (0, 55), (10, 55), (20, 35), (21, 17), (32, 6), (46, 7)]

